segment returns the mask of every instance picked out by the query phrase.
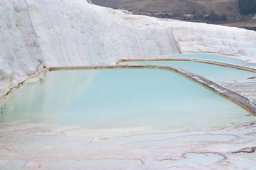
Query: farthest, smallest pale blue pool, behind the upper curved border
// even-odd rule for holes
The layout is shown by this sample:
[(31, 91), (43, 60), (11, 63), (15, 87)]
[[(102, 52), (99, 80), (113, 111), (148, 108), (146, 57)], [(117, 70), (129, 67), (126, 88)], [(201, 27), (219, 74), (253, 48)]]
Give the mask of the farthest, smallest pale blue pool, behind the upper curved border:
[(227, 63), (237, 64), (237, 65), (243, 64), (244, 62), (246, 62), (244, 60), (236, 59), (233, 57), (228, 57), (228, 56), (218, 55), (218, 54), (209, 54), (209, 53), (163, 55), (162, 57), (210, 59), (210, 60), (214, 60), (214, 61), (227, 62)]

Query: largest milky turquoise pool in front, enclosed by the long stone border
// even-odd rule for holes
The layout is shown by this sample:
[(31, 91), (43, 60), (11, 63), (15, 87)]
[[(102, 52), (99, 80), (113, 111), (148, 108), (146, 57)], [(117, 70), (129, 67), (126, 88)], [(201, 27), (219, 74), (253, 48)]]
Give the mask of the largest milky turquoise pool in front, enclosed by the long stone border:
[(252, 120), (233, 102), (158, 69), (47, 72), (0, 104), (4, 121), (93, 129), (217, 130)]

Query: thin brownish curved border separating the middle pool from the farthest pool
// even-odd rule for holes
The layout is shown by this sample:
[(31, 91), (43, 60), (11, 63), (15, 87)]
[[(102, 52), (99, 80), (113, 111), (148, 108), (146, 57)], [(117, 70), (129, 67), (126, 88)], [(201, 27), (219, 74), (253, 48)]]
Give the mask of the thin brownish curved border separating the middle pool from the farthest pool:
[(147, 59), (119, 59), (117, 60), (116, 64), (119, 64), (120, 62), (133, 62), (133, 61), (192, 61), (192, 62), (203, 62), (207, 64), (213, 64), (213, 65), (220, 65), (224, 67), (230, 67), (230, 68), (236, 68), (239, 70), (244, 71), (250, 71), (253, 73), (256, 73), (256, 68), (242, 66), (242, 65), (236, 65), (236, 64), (230, 64), (227, 62), (220, 62), (220, 61), (214, 61), (209, 59), (197, 59), (197, 58), (147, 58)]

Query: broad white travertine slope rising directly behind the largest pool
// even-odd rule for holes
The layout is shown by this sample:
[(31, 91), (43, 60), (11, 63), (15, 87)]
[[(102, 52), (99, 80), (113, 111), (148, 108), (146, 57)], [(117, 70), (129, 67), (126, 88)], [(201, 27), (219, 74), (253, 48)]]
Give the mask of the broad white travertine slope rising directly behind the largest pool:
[(170, 28), (127, 22), (86, 0), (26, 1), (47, 66), (114, 64), (120, 58), (179, 53)]

